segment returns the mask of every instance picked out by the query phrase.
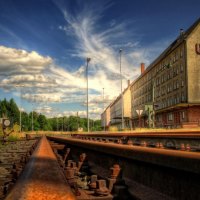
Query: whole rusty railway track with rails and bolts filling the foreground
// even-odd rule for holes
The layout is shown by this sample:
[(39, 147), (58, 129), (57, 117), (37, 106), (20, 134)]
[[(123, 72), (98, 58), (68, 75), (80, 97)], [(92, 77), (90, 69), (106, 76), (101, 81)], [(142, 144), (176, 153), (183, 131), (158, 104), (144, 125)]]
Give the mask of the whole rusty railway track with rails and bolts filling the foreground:
[[(38, 143), (32, 140), (35, 143), (27, 148), (28, 154), (24, 154), (26, 145), (18, 145), (18, 155), (23, 155), (21, 160), (27, 159), (17, 167), (13, 165), (15, 156), (10, 160), (7, 156), (12, 162), (7, 168), (10, 172), (19, 170), (19, 173), (12, 172), (9, 176), (5, 173), (12, 181), (8, 187), (3, 187), (2, 199), (199, 199), (198, 150), (174, 150), (165, 143), (152, 148), (150, 135), (48, 136)], [(194, 139), (191, 135), (185, 137)], [(198, 140), (199, 136), (195, 137)], [(135, 138), (141, 139), (139, 144), (134, 143)], [(166, 135), (166, 138), (183, 139), (181, 134), (178, 137)]]

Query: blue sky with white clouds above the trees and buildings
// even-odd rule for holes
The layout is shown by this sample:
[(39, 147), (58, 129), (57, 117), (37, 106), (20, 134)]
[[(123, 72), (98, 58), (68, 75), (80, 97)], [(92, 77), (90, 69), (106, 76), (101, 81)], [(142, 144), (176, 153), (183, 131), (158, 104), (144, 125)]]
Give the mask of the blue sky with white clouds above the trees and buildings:
[(199, 13), (199, 0), (0, 0), (0, 99), (84, 117), (91, 58), (89, 117), (100, 119), (121, 75), (126, 88)]

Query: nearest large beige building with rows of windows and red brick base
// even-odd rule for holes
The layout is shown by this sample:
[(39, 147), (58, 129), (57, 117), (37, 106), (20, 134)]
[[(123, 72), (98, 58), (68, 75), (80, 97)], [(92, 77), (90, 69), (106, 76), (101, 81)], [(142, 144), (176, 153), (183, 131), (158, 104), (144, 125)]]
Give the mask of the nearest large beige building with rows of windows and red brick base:
[[(200, 120), (200, 19), (179, 37), (132, 83), (132, 118), (142, 109), (142, 126), (180, 127)], [(152, 105), (152, 113), (145, 111)], [(155, 114), (154, 114), (155, 113)], [(151, 118), (148, 118), (148, 115)], [(155, 116), (155, 119), (154, 117)]]

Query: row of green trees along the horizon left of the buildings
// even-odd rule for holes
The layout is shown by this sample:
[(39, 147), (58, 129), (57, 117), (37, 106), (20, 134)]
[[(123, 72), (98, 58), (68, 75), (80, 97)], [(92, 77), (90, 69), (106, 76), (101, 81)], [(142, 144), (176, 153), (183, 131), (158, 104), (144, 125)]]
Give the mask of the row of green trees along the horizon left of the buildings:
[[(7, 101), (6, 99), (0, 100), (0, 117), (8, 117), (11, 124), (19, 126), (20, 111), (14, 99)], [(21, 112), (22, 131), (32, 130), (32, 112)], [(83, 128), (87, 131), (87, 119), (80, 118), (79, 116), (47, 118), (43, 114), (33, 112), (33, 129), (44, 131), (77, 131), (78, 128)], [(101, 121), (90, 119), (91, 131), (101, 130)]]

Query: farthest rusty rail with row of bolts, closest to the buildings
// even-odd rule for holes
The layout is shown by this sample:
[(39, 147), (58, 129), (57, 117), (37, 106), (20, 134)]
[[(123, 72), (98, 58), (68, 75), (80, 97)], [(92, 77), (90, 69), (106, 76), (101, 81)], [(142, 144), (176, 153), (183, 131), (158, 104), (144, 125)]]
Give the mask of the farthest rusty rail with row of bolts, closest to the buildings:
[(200, 151), (200, 132), (152, 132), (152, 133), (108, 133), (108, 134), (73, 134), (72, 138), (113, 142), (119, 144), (165, 148), (173, 150)]

